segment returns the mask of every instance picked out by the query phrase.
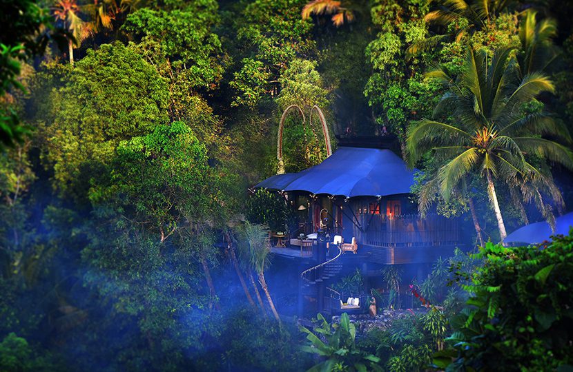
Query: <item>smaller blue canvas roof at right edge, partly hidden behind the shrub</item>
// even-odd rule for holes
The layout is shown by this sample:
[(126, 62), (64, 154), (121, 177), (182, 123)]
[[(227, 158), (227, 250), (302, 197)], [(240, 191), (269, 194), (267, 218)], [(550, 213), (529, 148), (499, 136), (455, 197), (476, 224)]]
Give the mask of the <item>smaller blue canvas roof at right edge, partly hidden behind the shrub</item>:
[(573, 226), (573, 212), (564, 214), (555, 219), (555, 232), (551, 231), (551, 227), (545, 221), (540, 223), (531, 223), (516, 229), (516, 231), (509, 234), (503, 241), (536, 244), (543, 242), (543, 240), (550, 240), (552, 235), (569, 235), (569, 230)]

